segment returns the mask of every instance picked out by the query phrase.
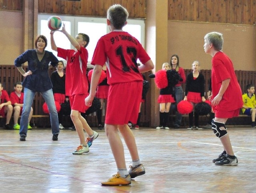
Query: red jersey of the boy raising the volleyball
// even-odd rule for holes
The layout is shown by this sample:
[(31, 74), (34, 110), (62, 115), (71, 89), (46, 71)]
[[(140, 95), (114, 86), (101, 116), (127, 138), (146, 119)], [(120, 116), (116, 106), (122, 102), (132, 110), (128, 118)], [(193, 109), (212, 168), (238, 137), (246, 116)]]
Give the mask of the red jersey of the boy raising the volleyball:
[(88, 62), (88, 51), (81, 47), (81, 51), (73, 49), (57, 48), (58, 57), (67, 61), (65, 91), (66, 96), (87, 94), (88, 80), (86, 69)]

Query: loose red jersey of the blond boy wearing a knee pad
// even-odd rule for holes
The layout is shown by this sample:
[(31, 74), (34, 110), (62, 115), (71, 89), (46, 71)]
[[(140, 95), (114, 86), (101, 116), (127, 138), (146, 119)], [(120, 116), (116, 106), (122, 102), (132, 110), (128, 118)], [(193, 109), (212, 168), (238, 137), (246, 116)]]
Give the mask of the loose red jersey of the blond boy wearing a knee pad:
[(223, 52), (217, 52), (212, 58), (212, 98), (220, 91), (222, 81), (230, 79), (222, 100), (215, 109), (221, 111), (230, 111), (243, 106), (242, 91), (237, 81), (233, 63)]

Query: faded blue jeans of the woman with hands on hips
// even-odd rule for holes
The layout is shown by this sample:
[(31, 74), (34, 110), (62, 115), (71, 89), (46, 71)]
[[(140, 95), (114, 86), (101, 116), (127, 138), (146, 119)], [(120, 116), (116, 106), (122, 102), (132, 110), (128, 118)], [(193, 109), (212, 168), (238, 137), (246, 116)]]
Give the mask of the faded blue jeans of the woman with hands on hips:
[[(24, 88), (24, 103), (20, 119), (20, 136), (27, 136), (28, 132), (28, 116), (30, 114), (31, 106), (36, 95), (36, 91), (31, 91), (28, 88)], [(52, 126), (52, 134), (59, 134), (59, 120), (58, 113), (55, 106), (55, 101), (52, 93), (52, 89), (41, 92), (44, 100), (48, 106), (50, 112), (50, 120)]]

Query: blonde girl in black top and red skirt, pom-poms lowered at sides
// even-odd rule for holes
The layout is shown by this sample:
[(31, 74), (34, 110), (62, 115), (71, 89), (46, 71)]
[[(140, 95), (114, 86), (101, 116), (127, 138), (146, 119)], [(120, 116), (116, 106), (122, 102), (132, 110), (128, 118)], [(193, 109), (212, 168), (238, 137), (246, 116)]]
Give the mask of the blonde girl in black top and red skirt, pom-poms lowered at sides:
[[(195, 107), (199, 102), (204, 102), (204, 75), (200, 73), (200, 65), (198, 61), (192, 63), (193, 72), (189, 73), (186, 79), (186, 89), (184, 100), (187, 100)], [(195, 123), (194, 129), (201, 129), (199, 127), (199, 115), (194, 110), (188, 114), (189, 126), (188, 130), (193, 129), (193, 119)]]

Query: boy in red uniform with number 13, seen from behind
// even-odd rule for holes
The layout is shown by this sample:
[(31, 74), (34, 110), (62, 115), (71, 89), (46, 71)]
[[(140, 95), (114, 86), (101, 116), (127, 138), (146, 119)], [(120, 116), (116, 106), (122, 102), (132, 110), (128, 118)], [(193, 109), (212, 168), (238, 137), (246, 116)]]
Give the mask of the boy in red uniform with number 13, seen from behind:
[[(94, 65), (94, 70), (90, 95), (85, 100), (87, 106), (92, 105), (102, 67), (106, 63), (110, 87), (105, 131), (116, 161), (117, 174), (108, 181), (102, 182), (102, 185), (128, 185), (131, 183), (131, 178), (145, 173), (128, 121), (136, 123), (138, 118), (143, 82), (140, 73), (152, 70), (154, 65), (140, 42), (122, 30), (127, 24), (127, 18), (128, 12), (121, 5), (116, 4), (108, 9), (107, 25), (110, 28), (110, 33), (99, 39), (94, 50), (91, 62)], [(138, 67), (137, 59), (140, 59), (144, 65)], [(118, 130), (132, 157), (129, 171), (126, 168), (124, 147)]]

